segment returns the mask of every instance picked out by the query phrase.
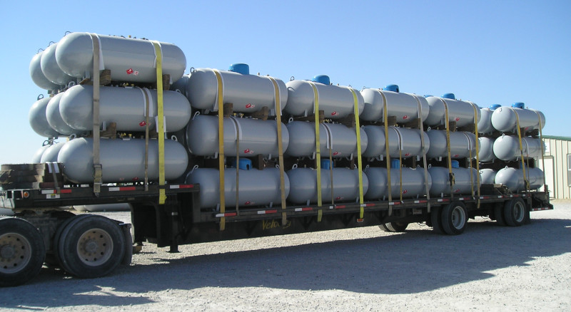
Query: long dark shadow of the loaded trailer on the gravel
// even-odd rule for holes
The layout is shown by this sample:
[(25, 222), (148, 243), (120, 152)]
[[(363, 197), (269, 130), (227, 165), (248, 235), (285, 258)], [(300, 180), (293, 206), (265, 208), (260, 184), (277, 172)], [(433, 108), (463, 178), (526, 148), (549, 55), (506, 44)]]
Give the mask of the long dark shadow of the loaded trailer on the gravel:
[[(460, 236), (433, 234), (427, 228), (176, 260), (148, 254), (162, 263), (122, 267), (101, 279), (68, 279), (62, 271), (44, 269), (31, 284), (4, 289), (0, 302), (17, 302), (1, 304), (6, 308), (139, 305), (153, 302), (149, 292), (203, 287), (420, 293), (488, 279), (495, 269), (527, 266), (536, 257), (570, 252), (570, 227), (568, 219), (534, 219), (523, 227), (472, 222)], [(106, 294), (106, 288), (126, 294)]]

